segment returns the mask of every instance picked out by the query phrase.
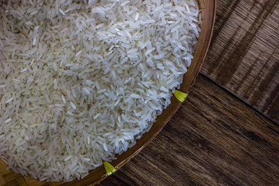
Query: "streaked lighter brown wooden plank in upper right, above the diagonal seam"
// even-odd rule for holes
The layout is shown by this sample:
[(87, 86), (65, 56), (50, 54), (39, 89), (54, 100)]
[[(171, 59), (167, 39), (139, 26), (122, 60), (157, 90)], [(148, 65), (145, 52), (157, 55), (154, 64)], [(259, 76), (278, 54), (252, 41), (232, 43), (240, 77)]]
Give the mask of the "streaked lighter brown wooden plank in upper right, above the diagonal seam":
[(202, 73), (279, 122), (279, 1), (220, 0)]

